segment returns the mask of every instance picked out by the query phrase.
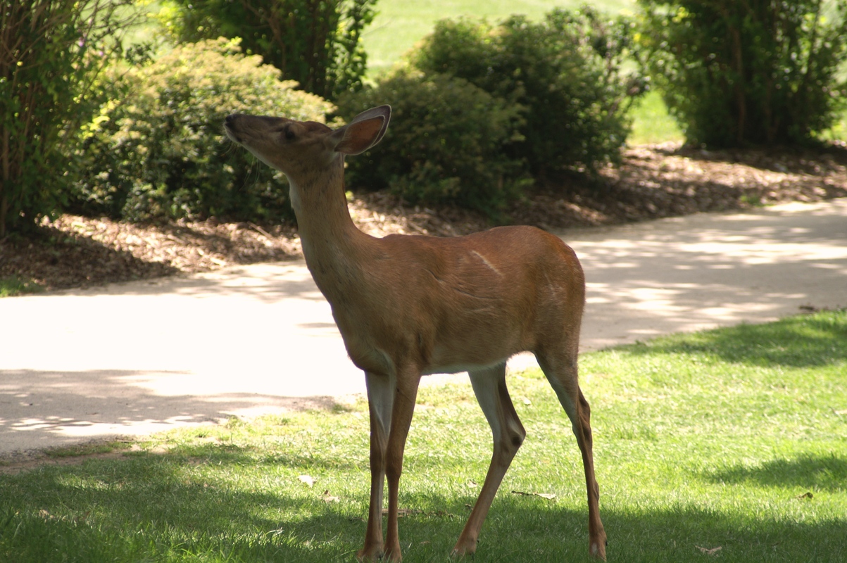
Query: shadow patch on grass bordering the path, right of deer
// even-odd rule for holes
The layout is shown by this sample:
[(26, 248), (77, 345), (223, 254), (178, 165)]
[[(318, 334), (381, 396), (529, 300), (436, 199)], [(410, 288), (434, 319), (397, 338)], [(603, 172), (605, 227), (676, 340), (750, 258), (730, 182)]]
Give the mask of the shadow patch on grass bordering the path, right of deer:
[(701, 353), (753, 366), (817, 367), (847, 362), (847, 311), (739, 324), (623, 347), (629, 353)]

